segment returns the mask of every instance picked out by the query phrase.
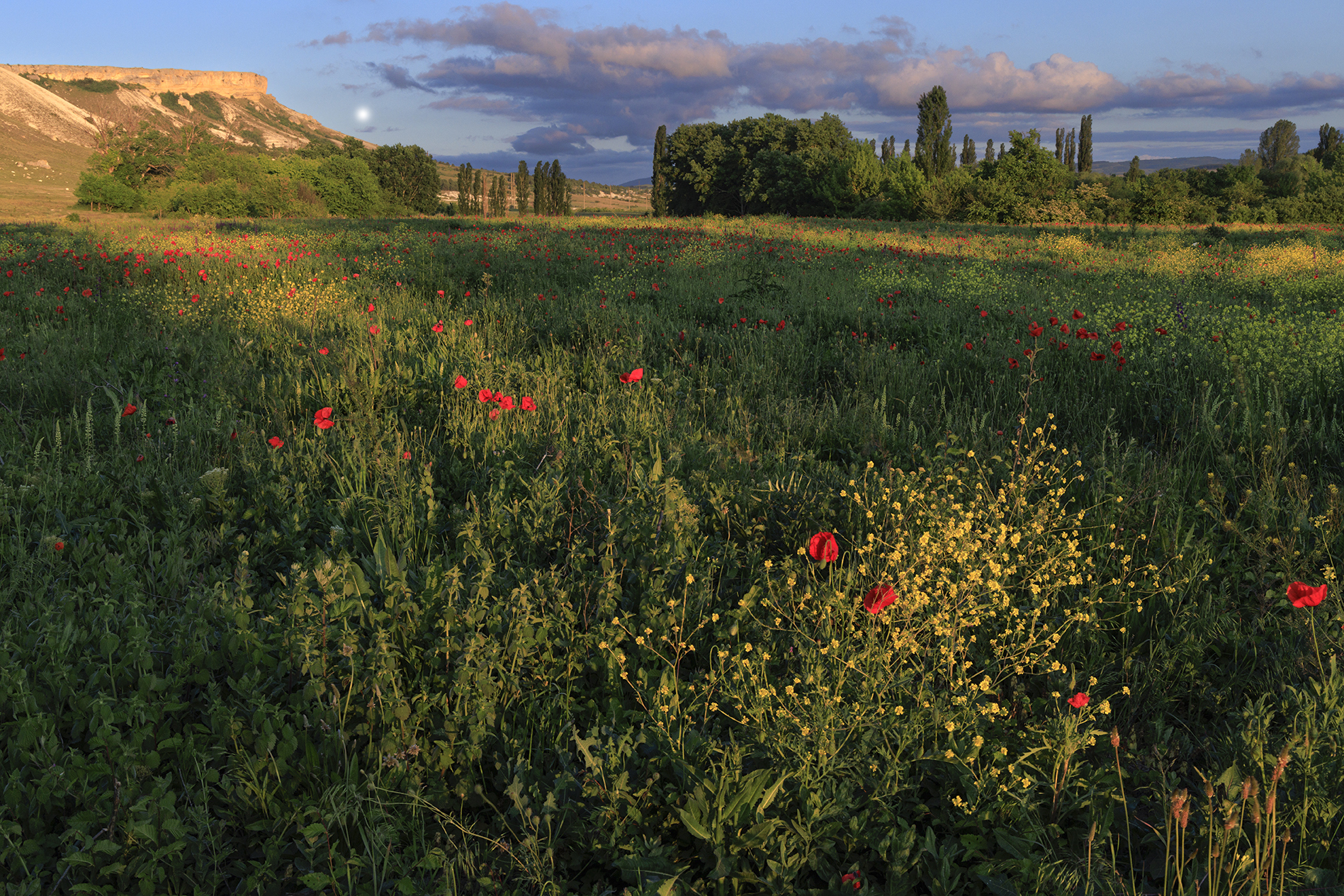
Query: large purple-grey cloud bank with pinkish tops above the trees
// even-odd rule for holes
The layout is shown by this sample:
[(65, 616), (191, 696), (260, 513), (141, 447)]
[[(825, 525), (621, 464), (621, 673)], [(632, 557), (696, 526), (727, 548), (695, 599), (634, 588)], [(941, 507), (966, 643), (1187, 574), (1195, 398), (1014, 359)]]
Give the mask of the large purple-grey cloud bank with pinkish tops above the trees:
[(734, 109), (909, 116), (934, 85), (946, 89), (954, 116), (977, 117), (1142, 109), (1262, 118), (1344, 101), (1344, 78), (1327, 73), (1262, 83), (1185, 66), (1126, 85), (1063, 54), (1019, 66), (1003, 52), (926, 50), (896, 16), (871, 24), (871, 39), (847, 43), (734, 43), (719, 31), (694, 28), (566, 28), (550, 11), (504, 1), (438, 21), (382, 21), (358, 39), (340, 32), (323, 43), (438, 48), (444, 55), (415, 77), (401, 66), (371, 67), (392, 87), (435, 93), (430, 107), (556, 122), (564, 133), (534, 128), (517, 145), (554, 141), (571, 154), (593, 149), (586, 138), (626, 137), (645, 145), (659, 125), (676, 128)]

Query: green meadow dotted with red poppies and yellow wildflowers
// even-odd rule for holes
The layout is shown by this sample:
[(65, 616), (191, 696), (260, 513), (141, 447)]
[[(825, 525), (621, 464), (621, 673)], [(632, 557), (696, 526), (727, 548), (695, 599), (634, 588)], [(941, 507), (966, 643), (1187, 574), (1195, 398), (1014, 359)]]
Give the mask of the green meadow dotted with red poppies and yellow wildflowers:
[(1344, 242), (0, 226), (5, 893), (1344, 893)]

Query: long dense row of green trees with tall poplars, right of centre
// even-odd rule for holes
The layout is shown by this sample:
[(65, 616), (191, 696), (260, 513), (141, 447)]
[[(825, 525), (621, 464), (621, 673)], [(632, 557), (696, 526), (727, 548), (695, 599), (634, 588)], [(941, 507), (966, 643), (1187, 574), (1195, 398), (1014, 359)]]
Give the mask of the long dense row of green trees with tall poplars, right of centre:
[[(1145, 175), (1093, 172), (1093, 117), (1042, 136), (1012, 130), (996, 146), (964, 134), (953, 145), (948, 94), (919, 97), (911, 146), (894, 136), (856, 140), (837, 116), (767, 113), (730, 124), (659, 128), (655, 215), (782, 214), (968, 223), (1344, 223), (1344, 148), (1322, 125), (1300, 152), (1297, 126), (1279, 120), (1236, 164)], [(960, 164), (958, 164), (960, 163)]]

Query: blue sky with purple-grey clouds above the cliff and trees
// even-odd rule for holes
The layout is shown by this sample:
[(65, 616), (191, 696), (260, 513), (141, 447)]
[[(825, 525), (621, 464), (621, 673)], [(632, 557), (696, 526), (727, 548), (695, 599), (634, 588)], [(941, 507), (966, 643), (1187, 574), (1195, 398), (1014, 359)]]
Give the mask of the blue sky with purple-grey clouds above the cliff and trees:
[(1278, 118), (1302, 149), (1344, 126), (1344, 4), (953, 0), (535, 7), (418, 0), (40, 4), (5, 12), (11, 63), (242, 70), (282, 103), (374, 142), (478, 167), (559, 157), (566, 173), (648, 175), (653, 132), (777, 111), (839, 114), (856, 137), (914, 137), (948, 90), (954, 141), (1093, 116), (1094, 157), (1235, 157)]

